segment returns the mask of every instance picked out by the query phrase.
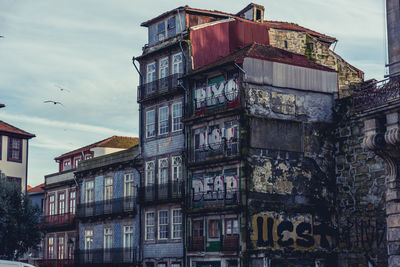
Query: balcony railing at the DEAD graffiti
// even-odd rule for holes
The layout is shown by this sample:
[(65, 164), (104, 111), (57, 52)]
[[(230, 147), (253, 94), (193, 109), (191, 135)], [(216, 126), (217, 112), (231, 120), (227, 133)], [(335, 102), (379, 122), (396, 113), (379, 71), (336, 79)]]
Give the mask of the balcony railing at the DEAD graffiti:
[(239, 204), (239, 190), (193, 192), (191, 199), (193, 208), (234, 206)]

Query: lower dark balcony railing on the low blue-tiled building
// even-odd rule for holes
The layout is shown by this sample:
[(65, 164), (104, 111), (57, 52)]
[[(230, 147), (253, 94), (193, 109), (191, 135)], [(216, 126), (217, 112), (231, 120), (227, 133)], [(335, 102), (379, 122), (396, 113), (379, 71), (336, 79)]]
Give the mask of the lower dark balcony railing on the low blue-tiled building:
[(91, 264), (105, 266), (135, 263), (135, 248), (110, 248), (110, 249), (86, 249), (79, 250), (76, 254), (78, 265), (87, 266)]

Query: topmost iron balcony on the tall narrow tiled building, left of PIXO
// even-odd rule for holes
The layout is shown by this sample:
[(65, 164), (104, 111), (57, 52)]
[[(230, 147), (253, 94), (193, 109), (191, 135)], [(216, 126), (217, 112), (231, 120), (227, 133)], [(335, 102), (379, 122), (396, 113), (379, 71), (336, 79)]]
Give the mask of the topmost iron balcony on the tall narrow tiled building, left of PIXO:
[(140, 103), (160, 95), (177, 92), (179, 90), (178, 79), (182, 76), (182, 73), (176, 73), (153, 82), (139, 85), (138, 102)]

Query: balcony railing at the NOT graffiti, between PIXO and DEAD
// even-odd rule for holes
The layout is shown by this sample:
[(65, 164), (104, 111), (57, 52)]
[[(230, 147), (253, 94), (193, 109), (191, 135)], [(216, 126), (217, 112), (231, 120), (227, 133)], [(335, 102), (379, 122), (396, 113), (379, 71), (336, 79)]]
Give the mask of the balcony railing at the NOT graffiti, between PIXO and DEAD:
[(239, 142), (237, 139), (232, 141), (222, 140), (218, 143), (205, 144), (193, 150), (193, 161), (204, 161), (215, 157), (232, 157), (239, 155)]

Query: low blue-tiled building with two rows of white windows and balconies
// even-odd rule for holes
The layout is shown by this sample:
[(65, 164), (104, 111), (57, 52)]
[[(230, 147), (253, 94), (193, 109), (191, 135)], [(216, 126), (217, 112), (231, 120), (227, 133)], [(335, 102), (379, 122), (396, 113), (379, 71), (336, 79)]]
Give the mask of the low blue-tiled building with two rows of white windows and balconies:
[(139, 260), (138, 145), (83, 161), (80, 185), (79, 249), (82, 266), (136, 266)]

